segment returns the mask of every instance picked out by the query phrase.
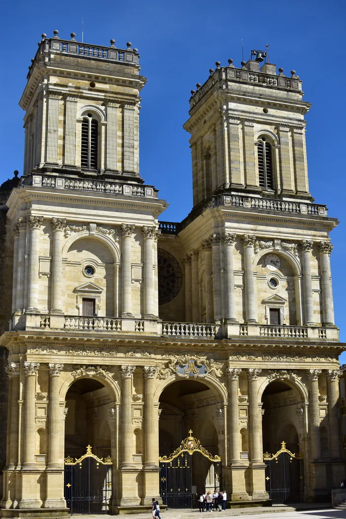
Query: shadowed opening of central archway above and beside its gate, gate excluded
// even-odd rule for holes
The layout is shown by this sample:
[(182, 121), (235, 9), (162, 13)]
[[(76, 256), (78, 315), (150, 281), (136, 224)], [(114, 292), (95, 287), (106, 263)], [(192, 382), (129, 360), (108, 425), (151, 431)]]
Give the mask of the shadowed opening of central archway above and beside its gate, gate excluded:
[[(169, 456), (193, 431), (193, 436), (214, 457), (224, 454), (224, 420), (222, 399), (215, 389), (195, 379), (173, 380), (160, 394), (159, 454)], [(220, 471), (215, 464), (198, 452), (193, 454), (191, 466), (192, 506), (196, 494), (214, 491), (219, 486)], [(192, 461), (192, 459), (191, 459)], [(183, 506), (179, 502), (179, 506)], [(171, 504), (172, 506), (172, 504)], [(173, 504), (174, 506), (174, 504)], [(188, 508), (188, 507), (187, 507)]]

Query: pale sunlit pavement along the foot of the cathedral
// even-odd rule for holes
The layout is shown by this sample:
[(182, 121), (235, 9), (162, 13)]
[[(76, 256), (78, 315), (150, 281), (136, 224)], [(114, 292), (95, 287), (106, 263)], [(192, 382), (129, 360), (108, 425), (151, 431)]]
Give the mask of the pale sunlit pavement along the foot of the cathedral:
[[(308, 503), (300, 503), (297, 505), (299, 508), (307, 508), (313, 506)], [(308, 508), (306, 510), (296, 510), (294, 507), (286, 506), (272, 506), (272, 507), (254, 507), (254, 508), (238, 508), (235, 510), (226, 510), (225, 512), (209, 512), (207, 517), (212, 519), (213, 517), (235, 517), (241, 515), (242, 517), (250, 516), (251, 519), (279, 519), (285, 517), (285, 519), (345, 519), (346, 514), (344, 510), (334, 510), (333, 508), (319, 508), (319, 504), (316, 504), (314, 509)], [(196, 514), (199, 514), (199, 510), (168, 510), (162, 514), (162, 519), (193, 519)], [(206, 512), (205, 512), (206, 513)], [(151, 514), (131, 514), (128, 515), (129, 519), (150, 519)], [(204, 517), (204, 516), (203, 516)], [(74, 519), (100, 519), (100, 515), (79, 515), (74, 514)], [(197, 518), (196, 518), (197, 519)], [(206, 519), (206, 518), (205, 518)]]

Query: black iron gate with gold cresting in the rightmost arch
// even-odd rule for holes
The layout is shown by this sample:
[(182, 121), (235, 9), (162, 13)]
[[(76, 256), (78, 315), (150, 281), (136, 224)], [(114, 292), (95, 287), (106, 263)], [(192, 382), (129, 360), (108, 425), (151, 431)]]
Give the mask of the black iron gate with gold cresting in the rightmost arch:
[(276, 454), (266, 453), (266, 490), (273, 504), (304, 501), (303, 458), (286, 449), (285, 442)]

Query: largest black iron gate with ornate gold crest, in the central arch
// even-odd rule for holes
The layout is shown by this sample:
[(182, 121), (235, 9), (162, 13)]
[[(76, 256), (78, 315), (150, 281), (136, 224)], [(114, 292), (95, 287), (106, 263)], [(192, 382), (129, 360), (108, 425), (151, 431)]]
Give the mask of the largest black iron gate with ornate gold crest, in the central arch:
[(199, 440), (185, 438), (170, 456), (162, 456), (160, 461), (160, 496), (168, 508), (192, 508), (192, 455), (200, 453), (214, 462), (215, 488), (221, 484), (221, 458), (212, 456)]

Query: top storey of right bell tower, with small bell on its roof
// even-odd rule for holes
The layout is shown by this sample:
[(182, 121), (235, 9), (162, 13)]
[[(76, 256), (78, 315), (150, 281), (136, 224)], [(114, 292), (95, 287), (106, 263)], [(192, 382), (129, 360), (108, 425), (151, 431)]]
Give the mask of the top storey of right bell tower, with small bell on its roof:
[(276, 66), (244, 61), (210, 69), (191, 90), (193, 205), (215, 193), (310, 200), (302, 82)]

